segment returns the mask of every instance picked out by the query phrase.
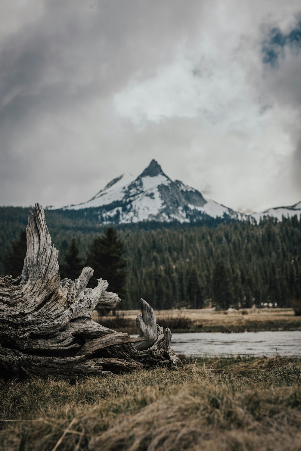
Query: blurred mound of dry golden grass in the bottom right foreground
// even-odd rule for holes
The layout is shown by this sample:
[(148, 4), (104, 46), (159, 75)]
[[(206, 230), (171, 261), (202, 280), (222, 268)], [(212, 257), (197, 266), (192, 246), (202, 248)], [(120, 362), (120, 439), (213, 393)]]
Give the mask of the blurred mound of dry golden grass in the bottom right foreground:
[[(287, 449), (300, 445), (301, 412), (292, 405), (301, 401), (296, 387), (278, 388), (273, 396), (264, 390), (233, 392), (192, 385), (178, 394), (156, 401), (136, 415), (124, 419), (100, 437), (91, 439), (89, 449), (177, 451), (185, 449), (269, 449), (285, 436)], [(293, 440), (288, 441), (288, 431)], [(264, 439), (270, 434), (270, 443)], [(272, 439), (274, 433), (277, 438)], [(261, 442), (261, 443), (260, 443)], [(289, 447), (293, 444), (293, 447)], [(204, 448), (203, 448), (204, 446)], [(297, 448), (295, 448), (297, 449)], [(300, 448), (299, 448), (300, 449)]]

